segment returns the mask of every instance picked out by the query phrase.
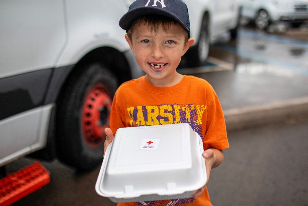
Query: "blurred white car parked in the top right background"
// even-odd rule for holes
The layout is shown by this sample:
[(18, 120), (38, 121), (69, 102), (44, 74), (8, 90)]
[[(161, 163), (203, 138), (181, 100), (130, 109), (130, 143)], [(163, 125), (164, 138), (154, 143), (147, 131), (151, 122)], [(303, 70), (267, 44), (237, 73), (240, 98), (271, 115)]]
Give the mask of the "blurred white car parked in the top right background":
[(302, 23), (308, 20), (308, 1), (305, 0), (241, 0), (245, 18), (253, 20), (259, 29), (270, 23)]

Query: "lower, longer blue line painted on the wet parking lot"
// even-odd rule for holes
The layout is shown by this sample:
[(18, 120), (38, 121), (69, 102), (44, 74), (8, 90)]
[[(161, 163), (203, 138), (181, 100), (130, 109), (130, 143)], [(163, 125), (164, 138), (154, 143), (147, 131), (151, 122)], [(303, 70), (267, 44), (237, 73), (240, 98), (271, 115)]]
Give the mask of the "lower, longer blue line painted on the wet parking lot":
[(247, 57), (249, 59), (253, 59), (253, 60), (256, 60), (256, 61), (259, 61), (259, 62), (279, 65), (283, 68), (286, 68), (286, 69), (289, 69), (289, 70), (292, 70), (292, 71), (295, 71), (295, 72), (298, 72), (298, 73), (301, 73), (301, 74), (304, 74), (304, 75), (308, 75), (308, 70), (296, 67), (296, 66), (294, 66), (292, 64), (288, 64), (286, 62), (281, 62), (281, 61), (278, 61), (278, 60), (265, 58), (265, 57), (253, 54), (253, 53), (245, 51), (245, 50), (239, 50), (238, 48), (235, 48), (233, 46), (229, 46), (229, 45), (225, 45), (225, 44), (218, 44), (218, 45), (213, 45), (213, 47), (218, 48), (218, 49), (222, 49), (222, 50), (226, 50), (226, 51), (231, 52), (233, 54), (240, 55), (240, 56), (243, 56), (243, 57)]

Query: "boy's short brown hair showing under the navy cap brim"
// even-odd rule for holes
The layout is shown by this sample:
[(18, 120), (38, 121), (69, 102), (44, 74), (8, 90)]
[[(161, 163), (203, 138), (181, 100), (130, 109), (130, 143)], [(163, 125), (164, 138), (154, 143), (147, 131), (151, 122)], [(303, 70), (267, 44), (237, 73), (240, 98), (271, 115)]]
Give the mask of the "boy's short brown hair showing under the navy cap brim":
[(170, 28), (171, 25), (179, 25), (182, 30), (181, 32), (183, 32), (185, 36), (184, 45), (188, 41), (188, 36), (189, 36), (188, 31), (185, 30), (184, 27), (180, 25), (180, 23), (176, 22), (172, 18), (163, 16), (163, 15), (157, 15), (157, 14), (142, 15), (136, 18), (132, 22), (132, 24), (129, 26), (127, 30), (128, 38), (131, 41), (132, 41), (132, 32), (134, 28), (136, 28), (137, 26), (140, 26), (141, 24), (145, 24), (149, 29), (151, 29), (151, 32), (154, 30), (155, 33), (157, 32), (160, 25), (162, 26), (164, 32), (168, 32), (168, 29)]

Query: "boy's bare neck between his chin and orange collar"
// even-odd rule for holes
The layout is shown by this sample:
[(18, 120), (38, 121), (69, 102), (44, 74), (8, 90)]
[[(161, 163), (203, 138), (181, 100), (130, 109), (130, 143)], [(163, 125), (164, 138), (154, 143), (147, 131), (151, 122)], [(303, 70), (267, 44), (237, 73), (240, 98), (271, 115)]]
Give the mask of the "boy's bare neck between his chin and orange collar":
[(150, 84), (152, 84), (153, 86), (156, 86), (156, 87), (172, 87), (172, 86), (180, 83), (180, 81), (182, 81), (183, 77), (184, 77), (184, 75), (181, 75), (177, 72), (174, 75), (166, 76), (163, 79), (153, 79), (153, 78), (149, 78), (148, 75), (145, 76), (148, 83), (150, 83)]

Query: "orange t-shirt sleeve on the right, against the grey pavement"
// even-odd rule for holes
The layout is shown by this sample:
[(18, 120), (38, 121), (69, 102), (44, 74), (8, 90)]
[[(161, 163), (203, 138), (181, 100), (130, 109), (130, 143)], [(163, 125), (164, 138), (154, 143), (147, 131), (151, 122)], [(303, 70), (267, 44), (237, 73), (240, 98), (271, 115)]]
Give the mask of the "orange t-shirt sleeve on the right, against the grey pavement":
[[(213, 91), (214, 92), (214, 91)], [(214, 92), (213, 102), (208, 106), (206, 118), (206, 132), (203, 139), (204, 149), (225, 149), (229, 147), (225, 118), (221, 104)]]

